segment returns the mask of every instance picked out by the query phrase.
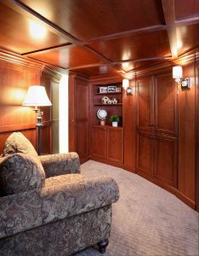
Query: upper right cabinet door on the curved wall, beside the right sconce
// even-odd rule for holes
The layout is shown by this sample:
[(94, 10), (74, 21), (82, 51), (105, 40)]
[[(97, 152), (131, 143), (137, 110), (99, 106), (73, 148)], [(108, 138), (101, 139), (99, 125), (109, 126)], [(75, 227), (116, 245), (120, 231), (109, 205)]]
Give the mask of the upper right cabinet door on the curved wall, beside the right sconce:
[(177, 90), (172, 75), (156, 76), (155, 123), (156, 131), (177, 135)]

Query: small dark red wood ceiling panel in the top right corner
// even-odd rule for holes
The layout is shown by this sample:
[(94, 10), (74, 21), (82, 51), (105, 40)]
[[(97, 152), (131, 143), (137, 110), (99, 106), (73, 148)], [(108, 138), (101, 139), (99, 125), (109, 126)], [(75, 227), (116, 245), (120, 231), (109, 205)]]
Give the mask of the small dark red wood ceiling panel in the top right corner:
[(176, 20), (199, 16), (198, 0), (175, 0)]

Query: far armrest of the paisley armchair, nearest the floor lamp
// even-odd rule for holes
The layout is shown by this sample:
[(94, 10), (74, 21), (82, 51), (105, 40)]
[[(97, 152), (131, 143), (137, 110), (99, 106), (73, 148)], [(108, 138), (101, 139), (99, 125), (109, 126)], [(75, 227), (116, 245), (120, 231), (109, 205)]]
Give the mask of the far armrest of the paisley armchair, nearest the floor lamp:
[(79, 156), (75, 152), (41, 155), (39, 158), (46, 172), (46, 177), (80, 172)]

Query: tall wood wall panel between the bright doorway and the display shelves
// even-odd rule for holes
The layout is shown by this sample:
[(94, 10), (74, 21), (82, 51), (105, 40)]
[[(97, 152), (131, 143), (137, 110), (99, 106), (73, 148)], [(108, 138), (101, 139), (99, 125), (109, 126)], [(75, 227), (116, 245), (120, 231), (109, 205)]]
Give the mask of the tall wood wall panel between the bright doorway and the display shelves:
[(88, 82), (75, 75), (69, 78), (69, 151), (76, 151), (81, 162), (89, 156)]

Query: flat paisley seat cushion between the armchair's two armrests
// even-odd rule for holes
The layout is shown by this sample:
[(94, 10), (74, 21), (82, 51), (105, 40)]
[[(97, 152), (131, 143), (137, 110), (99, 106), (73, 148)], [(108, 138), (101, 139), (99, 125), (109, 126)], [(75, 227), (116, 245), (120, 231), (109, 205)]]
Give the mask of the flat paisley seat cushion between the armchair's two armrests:
[(65, 174), (55, 177), (48, 177), (45, 181), (45, 187), (62, 185), (64, 183), (74, 183), (82, 180), (83, 177), (81, 174)]

